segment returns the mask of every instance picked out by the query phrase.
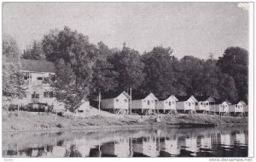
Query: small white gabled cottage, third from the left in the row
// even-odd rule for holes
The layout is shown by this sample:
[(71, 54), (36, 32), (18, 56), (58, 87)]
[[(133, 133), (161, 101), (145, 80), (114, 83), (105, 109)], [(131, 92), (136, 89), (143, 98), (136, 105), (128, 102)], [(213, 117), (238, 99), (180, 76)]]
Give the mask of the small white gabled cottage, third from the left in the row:
[(161, 99), (157, 103), (157, 109), (159, 111), (163, 111), (163, 113), (169, 112), (172, 113), (173, 111), (177, 111), (176, 109), (176, 102), (178, 99), (175, 96), (170, 96), (166, 99)]

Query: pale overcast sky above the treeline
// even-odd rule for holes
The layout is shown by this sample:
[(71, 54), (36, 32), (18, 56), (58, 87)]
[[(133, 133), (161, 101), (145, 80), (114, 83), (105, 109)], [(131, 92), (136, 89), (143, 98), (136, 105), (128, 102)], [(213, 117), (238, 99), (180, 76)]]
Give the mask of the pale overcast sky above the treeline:
[(121, 48), (125, 42), (140, 53), (163, 45), (179, 59), (248, 49), (248, 11), (237, 3), (3, 3), (3, 33), (21, 50), (65, 25), (92, 43)]

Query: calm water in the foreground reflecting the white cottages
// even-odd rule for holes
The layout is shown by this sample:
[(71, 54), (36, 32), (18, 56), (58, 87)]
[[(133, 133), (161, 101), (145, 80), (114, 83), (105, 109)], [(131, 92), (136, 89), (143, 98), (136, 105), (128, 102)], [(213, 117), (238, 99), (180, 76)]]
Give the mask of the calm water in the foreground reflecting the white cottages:
[(247, 126), (3, 132), (3, 157), (247, 157)]

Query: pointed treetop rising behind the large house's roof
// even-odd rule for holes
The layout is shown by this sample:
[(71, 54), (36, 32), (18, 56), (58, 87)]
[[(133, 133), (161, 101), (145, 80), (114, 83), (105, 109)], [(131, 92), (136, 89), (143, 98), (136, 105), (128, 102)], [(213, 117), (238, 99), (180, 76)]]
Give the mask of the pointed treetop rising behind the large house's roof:
[(22, 58), (23, 59), (36, 59), (36, 60), (45, 59), (42, 43), (38, 42), (38, 41), (33, 41), (32, 46), (27, 47), (26, 50), (24, 50)]

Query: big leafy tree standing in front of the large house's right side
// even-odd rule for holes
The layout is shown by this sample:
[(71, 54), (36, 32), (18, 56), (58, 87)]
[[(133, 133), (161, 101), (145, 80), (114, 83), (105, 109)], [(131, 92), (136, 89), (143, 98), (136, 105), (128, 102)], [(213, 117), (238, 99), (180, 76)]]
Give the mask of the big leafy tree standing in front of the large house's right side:
[(90, 93), (96, 46), (88, 42), (87, 36), (66, 26), (61, 31), (50, 31), (44, 36), (43, 51), (46, 59), (55, 62), (57, 67), (55, 78), (59, 83), (52, 83), (57, 99), (66, 103), (67, 109), (77, 112)]

